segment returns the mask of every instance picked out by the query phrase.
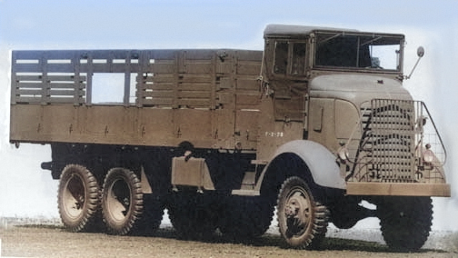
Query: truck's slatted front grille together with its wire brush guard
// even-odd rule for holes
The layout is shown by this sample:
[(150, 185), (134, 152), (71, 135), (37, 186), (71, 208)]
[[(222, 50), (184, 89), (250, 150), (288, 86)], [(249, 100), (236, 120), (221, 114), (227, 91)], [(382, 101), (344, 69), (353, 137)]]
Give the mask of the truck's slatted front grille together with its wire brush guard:
[[(373, 99), (361, 105), (362, 137), (347, 180), (379, 183), (443, 183), (446, 153), (420, 101)], [(423, 161), (430, 149), (433, 162)]]

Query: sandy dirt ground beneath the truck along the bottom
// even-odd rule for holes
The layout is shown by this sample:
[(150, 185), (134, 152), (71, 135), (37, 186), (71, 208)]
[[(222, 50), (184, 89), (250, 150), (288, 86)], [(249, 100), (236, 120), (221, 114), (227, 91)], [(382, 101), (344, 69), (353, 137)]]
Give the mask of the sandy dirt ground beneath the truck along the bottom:
[[(2, 257), (458, 257), (458, 233), (432, 233), (419, 253), (389, 253), (380, 233), (330, 229), (323, 250), (284, 249), (277, 233), (251, 243), (231, 243), (215, 234), (211, 241), (184, 241), (173, 228), (154, 237), (105, 233), (68, 233), (55, 224), (0, 226)], [(359, 240), (358, 240), (359, 239)]]

